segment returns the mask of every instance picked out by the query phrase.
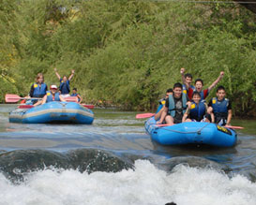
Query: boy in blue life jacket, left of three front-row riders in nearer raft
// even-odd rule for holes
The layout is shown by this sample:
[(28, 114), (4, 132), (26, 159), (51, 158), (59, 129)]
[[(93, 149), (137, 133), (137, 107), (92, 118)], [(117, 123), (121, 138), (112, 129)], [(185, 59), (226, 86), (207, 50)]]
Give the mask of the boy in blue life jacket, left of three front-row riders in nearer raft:
[(173, 86), (173, 95), (169, 95), (166, 99), (164, 109), (157, 124), (162, 124), (164, 121), (168, 125), (181, 123), (187, 106), (189, 106), (188, 96), (182, 93), (182, 84), (176, 82)]

